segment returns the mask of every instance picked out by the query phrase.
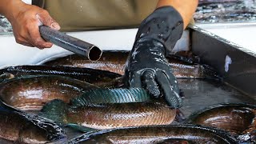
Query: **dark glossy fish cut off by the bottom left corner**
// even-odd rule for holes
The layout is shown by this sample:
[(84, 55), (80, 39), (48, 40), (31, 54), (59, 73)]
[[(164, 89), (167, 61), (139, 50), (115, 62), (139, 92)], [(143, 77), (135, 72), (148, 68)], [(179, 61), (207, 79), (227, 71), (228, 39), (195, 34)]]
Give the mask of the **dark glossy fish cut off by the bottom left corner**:
[(50, 119), (0, 104), (0, 138), (17, 143), (65, 142), (66, 134)]

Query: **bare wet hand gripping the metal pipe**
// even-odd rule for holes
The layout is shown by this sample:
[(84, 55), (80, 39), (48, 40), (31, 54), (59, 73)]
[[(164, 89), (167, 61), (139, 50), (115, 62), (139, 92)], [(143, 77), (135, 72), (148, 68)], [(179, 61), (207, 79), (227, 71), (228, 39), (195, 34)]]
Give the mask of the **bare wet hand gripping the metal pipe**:
[(22, 0), (1, 0), (0, 14), (10, 21), (16, 42), (25, 46), (50, 48), (53, 44), (42, 39), (38, 26), (46, 25), (55, 30), (60, 29), (46, 10), (28, 5)]

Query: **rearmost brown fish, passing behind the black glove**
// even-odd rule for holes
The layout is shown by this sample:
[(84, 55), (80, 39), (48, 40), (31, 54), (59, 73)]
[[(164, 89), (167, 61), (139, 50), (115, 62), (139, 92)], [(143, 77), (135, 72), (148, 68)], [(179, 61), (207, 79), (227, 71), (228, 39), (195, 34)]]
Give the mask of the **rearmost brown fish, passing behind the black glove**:
[[(46, 62), (48, 66), (73, 66), (82, 68), (91, 68), (97, 70), (109, 70), (117, 74), (124, 74), (126, 59), (128, 58), (128, 51), (111, 51), (103, 52), (102, 58), (97, 62), (91, 62), (90, 60), (84, 59), (76, 54), (66, 56), (64, 58), (58, 58), (54, 61)], [(178, 56), (175, 56), (178, 57)], [(184, 59), (184, 58), (183, 58)], [(186, 60), (187, 61), (187, 60)], [(198, 64), (191, 64), (189, 62), (175, 60), (169, 61), (170, 66), (174, 70), (176, 78), (205, 78), (208, 77), (206, 73), (214, 73), (213, 70), (208, 70), (209, 67)], [(209, 74), (209, 76), (210, 76)]]

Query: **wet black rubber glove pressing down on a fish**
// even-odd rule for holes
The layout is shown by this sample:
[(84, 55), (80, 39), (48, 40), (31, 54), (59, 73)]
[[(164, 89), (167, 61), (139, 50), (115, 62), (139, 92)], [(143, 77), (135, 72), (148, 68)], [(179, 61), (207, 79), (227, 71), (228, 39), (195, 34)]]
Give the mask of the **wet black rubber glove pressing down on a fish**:
[(182, 17), (177, 10), (171, 6), (154, 10), (138, 28), (126, 66), (126, 84), (146, 88), (155, 98), (163, 94), (169, 106), (181, 107), (178, 83), (165, 56), (182, 32)]

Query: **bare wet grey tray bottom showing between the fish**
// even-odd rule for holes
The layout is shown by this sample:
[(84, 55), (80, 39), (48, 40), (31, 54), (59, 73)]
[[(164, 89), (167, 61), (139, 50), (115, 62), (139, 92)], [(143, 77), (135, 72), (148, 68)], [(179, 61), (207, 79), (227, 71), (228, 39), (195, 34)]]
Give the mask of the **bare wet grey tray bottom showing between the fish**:
[[(240, 93), (238, 90), (235, 90), (218, 80), (179, 78), (178, 83), (184, 94), (181, 111), (186, 118), (197, 110), (202, 110), (208, 106), (214, 106), (219, 103), (256, 103), (253, 98)], [(178, 124), (178, 122), (173, 122), (172, 124)], [(64, 128), (64, 130), (66, 130), (68, 139), (82, 134), (81, 132), (71, 130), (70, 128)], [(6, 140), (0, 140), (0, 142), (6, 143)]]

